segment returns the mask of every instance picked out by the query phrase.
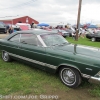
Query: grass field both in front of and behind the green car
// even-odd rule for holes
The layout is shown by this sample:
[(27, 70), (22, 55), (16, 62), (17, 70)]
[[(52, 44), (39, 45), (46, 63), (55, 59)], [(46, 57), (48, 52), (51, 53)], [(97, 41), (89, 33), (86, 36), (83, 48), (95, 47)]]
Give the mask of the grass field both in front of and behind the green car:
[[(80, 38), (79, 41), (74, 41), (72, 38), (67, 38), (67, 40), (71, 43), (100, 47), (100, 42), (91, 42), (86, 38)], [(58, 75), (38, 70), (33, 66), (25, 65), (17, 61), (6, 63), (0, 58), (1, 95), (53, 94), (59, 95), (60, 99), (57, 100), (67, 100), (66, 95), (68, 93), (73, 93), (74, 98), (70, 97), (70, 99), (68, 100), (80, 100), (80, 98), (76, 97), (77, 95), (74, 93), (77, 90), (81, 91), (77, 94), (79, 96), (84, 95), (85, 91), (91, 97), (90, 99), (90, 97), (87, 96), (86, 99), (88, 100), (99, 100), (98, 98), (100, 98), (100, 85), (83, 82), (81, 86), (78, 87), (78, 89), (73, 90), (66, 87), (63, 83), (61, 83)], [(92, 97), (95, 98), (92, 99)], [(81, 98), (81, 100), (84, 100), (84, 96), (83, 98)]]

